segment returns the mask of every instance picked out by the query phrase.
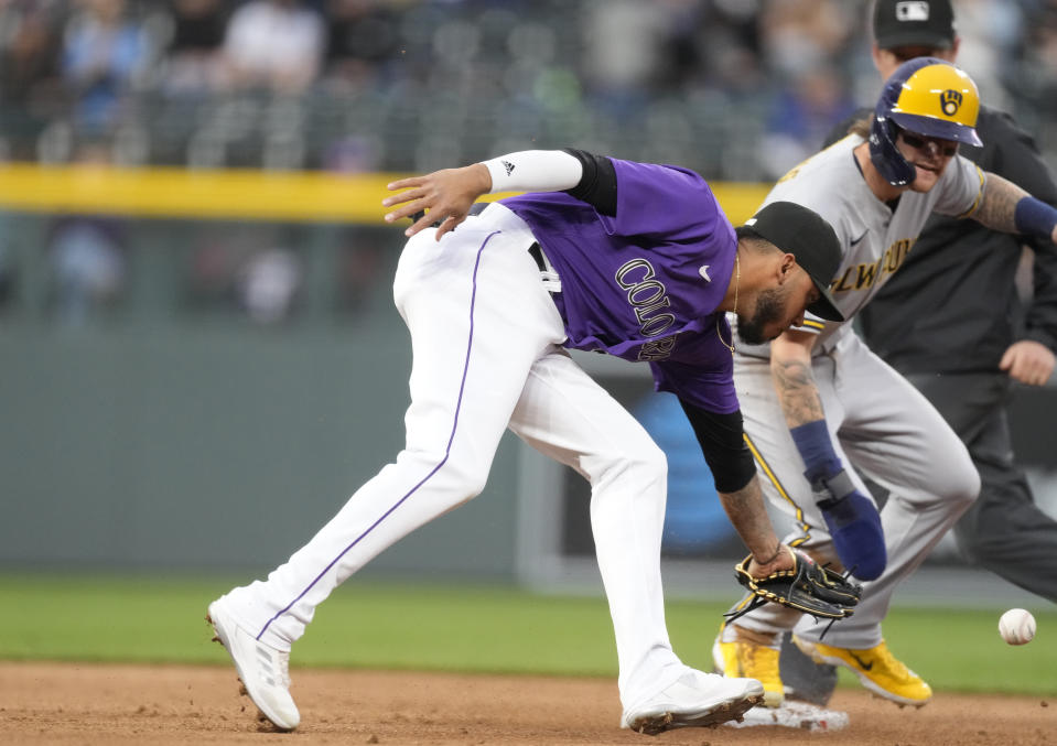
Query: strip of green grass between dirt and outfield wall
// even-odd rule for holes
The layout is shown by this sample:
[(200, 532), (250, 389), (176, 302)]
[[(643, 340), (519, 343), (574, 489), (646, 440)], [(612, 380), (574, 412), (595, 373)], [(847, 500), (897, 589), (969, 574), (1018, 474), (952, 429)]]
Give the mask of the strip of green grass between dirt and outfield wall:
[[(233, 584), (0, 574), (0, 659), (226, 666), (204, 617), (208, 602)], [(672, 644), (687, 663), (711, 667), (723, 610), (714, 603), (668, 604)], [(1033, 608), (1036, 639), (1011, 647), (996, 630), (1002, 610), (897, 607), (885, 636), (937, 691), (1057, 695), (1057, 612)], [(601, 596), (358, 580), (319, 608), (292, 664), (616, 675)], [(841, 677), (843, 685), (855, 681), (845, 671)]]

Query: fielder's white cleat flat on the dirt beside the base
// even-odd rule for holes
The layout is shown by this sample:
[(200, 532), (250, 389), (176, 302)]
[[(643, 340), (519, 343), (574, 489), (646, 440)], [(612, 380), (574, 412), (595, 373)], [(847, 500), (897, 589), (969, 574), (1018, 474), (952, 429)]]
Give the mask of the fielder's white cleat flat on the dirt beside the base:
[(715, 727), (742, 715), (764, 699), (755, 679), (726, 679), (687, 669), (675, 683), (648, 700), (628, 707), (622, 728), (656, 736), (684, 727)]

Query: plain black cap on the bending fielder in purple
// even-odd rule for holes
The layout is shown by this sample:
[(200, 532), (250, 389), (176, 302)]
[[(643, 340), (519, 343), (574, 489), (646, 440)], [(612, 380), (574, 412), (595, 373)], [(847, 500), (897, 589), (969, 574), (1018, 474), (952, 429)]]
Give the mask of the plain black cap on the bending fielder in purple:
[(827, 321), (844, 321), (830, 293), (830, 282), (841, 266), (842, 256), (833, 226), (810, 207), (795, 202), (773, 202), (745, 220), (745, 226), (797, 258), (820, 293), (808, 311)]

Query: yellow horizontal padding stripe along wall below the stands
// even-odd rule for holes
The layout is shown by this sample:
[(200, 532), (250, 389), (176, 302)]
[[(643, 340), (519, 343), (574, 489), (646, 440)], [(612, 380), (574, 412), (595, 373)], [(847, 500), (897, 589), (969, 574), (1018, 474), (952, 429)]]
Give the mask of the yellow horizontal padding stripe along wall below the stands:
[[(408, 174), (0, 165), (0, 209), (133, 217), (385, 225), (386, 185)], [(714, 184), (734, 225), (753, 215), (762, 184)], [(482, 199), (498, 199), (493, 194)]]

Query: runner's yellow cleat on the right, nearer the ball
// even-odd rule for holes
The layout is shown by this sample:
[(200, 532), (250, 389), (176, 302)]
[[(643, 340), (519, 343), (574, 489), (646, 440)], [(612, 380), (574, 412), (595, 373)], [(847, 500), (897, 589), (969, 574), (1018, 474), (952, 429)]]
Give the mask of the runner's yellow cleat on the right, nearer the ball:
[(822, 642), (810, 642), (796, 635), (792, 641), (816, 663), (843, 666), (859, 677), (863, 686), (878, 696), (905, 705), (920, 707), (932, 699), (932, 688), (917, 673), (897, 660), (884, 640), (866, 650), (834, 648)]

